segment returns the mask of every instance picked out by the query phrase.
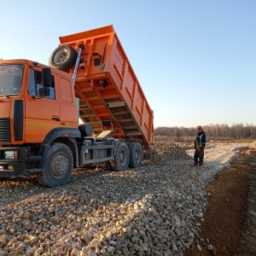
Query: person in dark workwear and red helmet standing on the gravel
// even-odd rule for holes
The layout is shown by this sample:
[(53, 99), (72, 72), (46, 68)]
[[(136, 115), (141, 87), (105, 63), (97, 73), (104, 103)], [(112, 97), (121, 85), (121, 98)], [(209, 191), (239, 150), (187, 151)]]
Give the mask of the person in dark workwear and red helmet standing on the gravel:
[(199, 166), (202, 166), (204, 163), (204, 150), (206, 148), (207, 136), (206, 136), (206, 133), (203, 131), (203, 128), (201, 125), (198, 125), (196, 128), (198, 133), (195, 138), (194, 160), (195, 160), (195, 166), (198, 166), (198, 164)]

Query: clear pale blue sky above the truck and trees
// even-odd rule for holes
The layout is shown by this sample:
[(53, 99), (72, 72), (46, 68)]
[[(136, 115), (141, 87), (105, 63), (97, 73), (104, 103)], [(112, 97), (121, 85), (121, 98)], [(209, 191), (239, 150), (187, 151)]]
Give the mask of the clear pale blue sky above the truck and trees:
[(0, 58), (48, 65), (60, 36), (113, 25), (154, 128), (256, 125), (255, 0), (0, 0)]

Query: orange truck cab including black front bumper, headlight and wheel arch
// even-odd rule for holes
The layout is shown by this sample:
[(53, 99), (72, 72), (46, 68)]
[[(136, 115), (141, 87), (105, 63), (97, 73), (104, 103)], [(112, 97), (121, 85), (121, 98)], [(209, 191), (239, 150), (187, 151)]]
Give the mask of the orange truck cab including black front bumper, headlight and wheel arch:
[(41, 170), (49, 137), (64, 139), (71, 132), (80, 137), (72, 78), (67, 73), (33, 61), (0, 61), (0, 104), (1, 176)]

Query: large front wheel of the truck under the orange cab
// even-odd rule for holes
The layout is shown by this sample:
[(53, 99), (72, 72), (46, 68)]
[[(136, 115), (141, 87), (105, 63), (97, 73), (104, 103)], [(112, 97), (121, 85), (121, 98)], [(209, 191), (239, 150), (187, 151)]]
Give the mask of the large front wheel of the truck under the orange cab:
[(55, 143), (43, 160), (43, 170), (38, 174), (38, 183), (54, 188), (69, 182), (73, 171), (73, 154), (63, 143)]

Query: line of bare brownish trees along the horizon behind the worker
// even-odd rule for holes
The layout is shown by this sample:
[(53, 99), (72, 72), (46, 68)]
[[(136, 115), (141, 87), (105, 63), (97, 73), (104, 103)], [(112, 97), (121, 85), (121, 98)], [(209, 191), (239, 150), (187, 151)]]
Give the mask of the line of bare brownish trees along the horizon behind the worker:
[[(234, 140), (234, 139), (256, 139), (256, 125), (204, 125), (207, 139)], [(186, 138), (195, 137), (196, 127), (157, 127), (154, 129), (156, 140), (166, 140), (172, 138), (175, 141), (184, 141)]]

